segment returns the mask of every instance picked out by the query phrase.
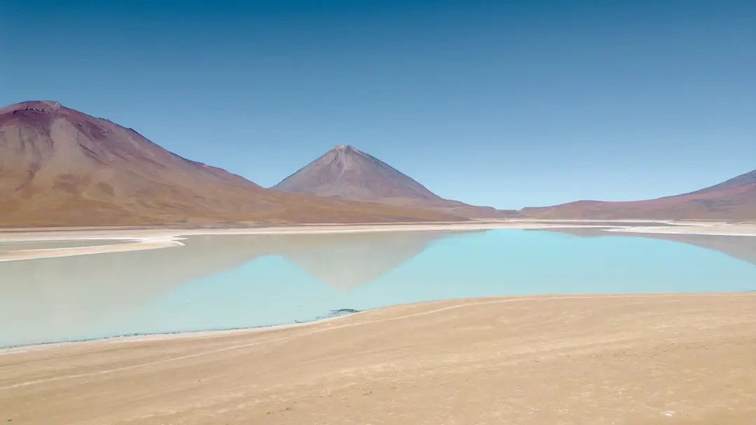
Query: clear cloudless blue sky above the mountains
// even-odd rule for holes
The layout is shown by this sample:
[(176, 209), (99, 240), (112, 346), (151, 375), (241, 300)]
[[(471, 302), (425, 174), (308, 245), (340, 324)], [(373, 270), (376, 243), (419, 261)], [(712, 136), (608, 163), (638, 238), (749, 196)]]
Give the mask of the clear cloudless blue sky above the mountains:
[(0, 103), (272, 186), (352, 145), (497, 208), (756, 169), (756, 2), (0, 1)]

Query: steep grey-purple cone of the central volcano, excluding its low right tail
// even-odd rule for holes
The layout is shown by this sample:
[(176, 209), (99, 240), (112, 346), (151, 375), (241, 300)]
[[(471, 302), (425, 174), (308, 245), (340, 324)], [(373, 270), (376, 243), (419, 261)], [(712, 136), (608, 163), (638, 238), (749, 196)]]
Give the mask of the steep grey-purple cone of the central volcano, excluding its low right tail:
[(441, 199), (411, 177), (352, 146), (336, 146), (272, 189), (345, 199)]

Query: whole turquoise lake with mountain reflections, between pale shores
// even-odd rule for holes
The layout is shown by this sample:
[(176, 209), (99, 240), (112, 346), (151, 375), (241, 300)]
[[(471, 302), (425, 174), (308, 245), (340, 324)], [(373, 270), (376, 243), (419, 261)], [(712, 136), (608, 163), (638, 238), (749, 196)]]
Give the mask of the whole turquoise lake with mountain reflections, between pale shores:
[(0, 263), (0, 346), (304, 322), (522, 294), (756, 290), (756, 237), (600, 229), (190, 236)]

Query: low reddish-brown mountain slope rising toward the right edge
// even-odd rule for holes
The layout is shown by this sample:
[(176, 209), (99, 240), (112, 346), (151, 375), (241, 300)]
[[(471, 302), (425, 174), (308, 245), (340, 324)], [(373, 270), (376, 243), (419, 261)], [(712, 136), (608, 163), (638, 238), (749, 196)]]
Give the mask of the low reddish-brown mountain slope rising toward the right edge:
[(578, 201), (552, 207), (523, 208), (535, 218), (756, 219), (756, 171), (696, 192), (648, 201)]

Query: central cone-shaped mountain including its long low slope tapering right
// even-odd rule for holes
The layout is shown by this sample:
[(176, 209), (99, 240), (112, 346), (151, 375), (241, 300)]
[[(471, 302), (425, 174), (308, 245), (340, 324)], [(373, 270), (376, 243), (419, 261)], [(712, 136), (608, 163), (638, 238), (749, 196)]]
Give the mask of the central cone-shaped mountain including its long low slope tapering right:
[(271, 189), (386, 205), (431, 208), (469, 218), (513, 217), (516, 211), (443, 199), (380, 159), (352, 146), (336, 146)]

